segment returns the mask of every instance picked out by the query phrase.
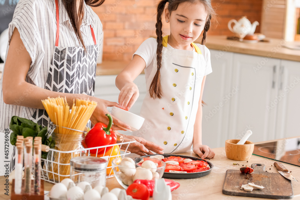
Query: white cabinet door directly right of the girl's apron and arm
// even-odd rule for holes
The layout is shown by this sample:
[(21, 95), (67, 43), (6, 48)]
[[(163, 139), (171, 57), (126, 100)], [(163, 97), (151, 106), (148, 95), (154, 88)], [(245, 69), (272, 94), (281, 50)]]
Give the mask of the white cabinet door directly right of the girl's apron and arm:
[(232, 92), (232, 52), (210, 50), (212, 73), (206, 76), (202, 100), (202, 144), (210, 148), (224, 146), (228, 134)]

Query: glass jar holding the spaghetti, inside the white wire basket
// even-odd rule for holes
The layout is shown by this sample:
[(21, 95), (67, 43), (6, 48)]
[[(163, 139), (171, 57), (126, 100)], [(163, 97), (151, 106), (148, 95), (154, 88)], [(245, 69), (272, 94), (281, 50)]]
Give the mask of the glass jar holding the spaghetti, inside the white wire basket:
[(84, 137), (82, 131), (74, 131), (74, 134), (52, 133), (52, 142), (55, 143), (55, 147), (54, 150), (50, 149), (47, 154), (50, 181), (59, 183), (63, 179), (69, 178), (71, 158), (86, 156), (86, 150), (82, 146)]

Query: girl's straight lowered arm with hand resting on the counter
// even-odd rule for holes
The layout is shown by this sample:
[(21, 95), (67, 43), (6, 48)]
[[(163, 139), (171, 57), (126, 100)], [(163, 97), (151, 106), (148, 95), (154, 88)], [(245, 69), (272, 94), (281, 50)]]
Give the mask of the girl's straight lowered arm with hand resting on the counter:
[(205, 84), (206, 76), (203, 77), (201, 85), (201, 93), (199, 98), (199, 105), (196, 114), (196, 120), (194, 124), (194, 133), (193, 133), (193, 151), (195, 154), (198, 154), (202, 159), (204, 158), (213, 158), (214, 151), (211, 150), (207, 145), (202, 145), (202, 95)]

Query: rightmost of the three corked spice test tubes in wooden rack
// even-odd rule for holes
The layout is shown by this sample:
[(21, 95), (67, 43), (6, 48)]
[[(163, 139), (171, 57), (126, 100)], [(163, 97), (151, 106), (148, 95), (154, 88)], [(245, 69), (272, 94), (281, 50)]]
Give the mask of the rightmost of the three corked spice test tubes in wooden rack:
[(41, 147), (42, 147), (42, 138), (35, 137), (35, 141), (33, 143), (34, 149), (34, 176), (35, 176), (35, 194), (40, 194), (41, 190)]

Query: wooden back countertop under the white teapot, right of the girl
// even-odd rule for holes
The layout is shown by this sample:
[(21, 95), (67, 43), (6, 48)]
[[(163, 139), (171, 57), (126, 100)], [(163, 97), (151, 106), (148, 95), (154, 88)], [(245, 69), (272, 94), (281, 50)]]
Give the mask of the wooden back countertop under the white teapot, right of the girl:
[[(244, 43), (237, 40), (227, 40), (226, 38), (227, 36), (224, 35), (209, 35), (205, 46), (208, 49), (300, 61), (300, 50), (284, 47), (283, 45), (288, 44), (284, 40), (266, 38), (270, 42)], [(201, 40), (196, 40), (195, 43), (201, 43)]]

